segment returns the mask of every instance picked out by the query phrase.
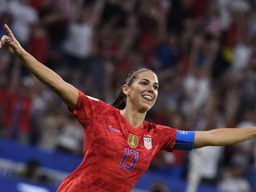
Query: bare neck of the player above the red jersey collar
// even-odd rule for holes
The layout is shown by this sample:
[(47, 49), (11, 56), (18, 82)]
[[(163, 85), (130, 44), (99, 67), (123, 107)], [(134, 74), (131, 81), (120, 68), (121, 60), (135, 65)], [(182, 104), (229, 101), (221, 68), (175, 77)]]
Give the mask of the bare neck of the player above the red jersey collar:
[(128, 111), (126, 108), (124, 108), (124, 110), (120, 110), (120, 113), (134, 128), (140, 127), (146, 116), (146, 113), (139, 113), (131, 110)]

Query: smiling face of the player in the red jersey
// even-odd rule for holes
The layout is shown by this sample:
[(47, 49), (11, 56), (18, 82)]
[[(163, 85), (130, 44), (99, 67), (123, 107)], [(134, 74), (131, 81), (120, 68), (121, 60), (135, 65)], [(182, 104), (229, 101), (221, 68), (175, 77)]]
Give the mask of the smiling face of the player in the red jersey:
[(158, 95), (158, 79), (151, 70), (142, 71), (132, 79), (132, 84), (123, 85), (126, 95), (126, 108), (146, 113), (156, 103)]

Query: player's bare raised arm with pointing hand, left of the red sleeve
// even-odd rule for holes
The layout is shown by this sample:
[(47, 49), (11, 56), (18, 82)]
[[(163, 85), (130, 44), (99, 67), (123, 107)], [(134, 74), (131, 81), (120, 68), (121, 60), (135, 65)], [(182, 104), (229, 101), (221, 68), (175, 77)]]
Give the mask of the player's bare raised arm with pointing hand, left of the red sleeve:
[(2, 36), (0, 47), (5, 47), (15, 57), (19, 58), (26, 68), (41, 81), (56, 92), (67, 104), (68, 108), (75, 108), (78, 99), (78, 90), (71, 84), (65, 82), (52, 69), (47, 68), (26, 52), (18, 40), (13, 36), (12, 30), (5, 24), (4, 28), (8, 36)]

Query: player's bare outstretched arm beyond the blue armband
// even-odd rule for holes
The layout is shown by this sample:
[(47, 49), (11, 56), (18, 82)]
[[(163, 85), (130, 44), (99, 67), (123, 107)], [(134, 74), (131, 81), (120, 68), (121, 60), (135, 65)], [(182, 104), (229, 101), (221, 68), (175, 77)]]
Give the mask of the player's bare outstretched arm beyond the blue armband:
[(219, 128), (210, 131), (196, 131), (194, 148), (205, 146), (226, 146), (256, 138), (256, 127)]

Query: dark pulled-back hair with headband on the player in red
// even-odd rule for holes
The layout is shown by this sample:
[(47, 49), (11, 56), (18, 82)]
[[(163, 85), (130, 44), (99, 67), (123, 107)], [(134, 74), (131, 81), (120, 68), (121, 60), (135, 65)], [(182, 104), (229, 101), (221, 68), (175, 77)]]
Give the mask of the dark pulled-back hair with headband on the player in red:
[(117, 99), (115, 100), (115, 102), (112, 104), (112, 106), (114, 106), (115, 108), (124, 109), (126, 106), (126, 96), (122, 90), (122, 86), (124, 84), (131, 85), (134, 78), (136, 78), (137, 75), (140, 74), (140, 72), (149, 71), (149, 70), (150, 69), (148, 69), (148, 68), (132, 69), (132, 71), (130, 73), (128, 73), (127, 76), (124, 77), (124, 79), (121, 83), (121, 91), (119, 92), (119, 95), (118, 95)]

